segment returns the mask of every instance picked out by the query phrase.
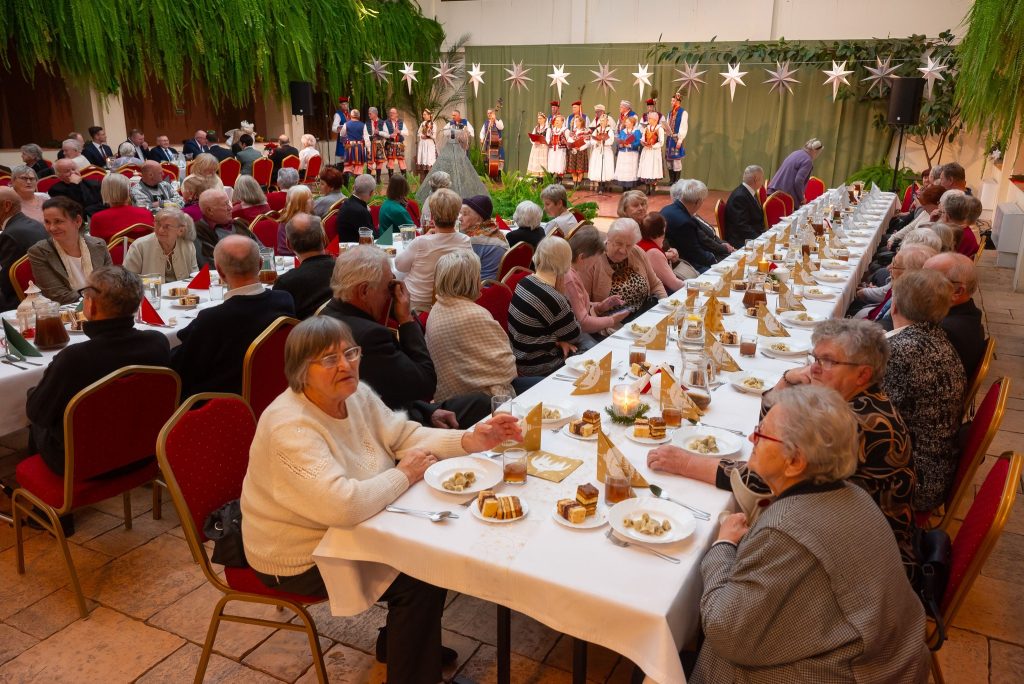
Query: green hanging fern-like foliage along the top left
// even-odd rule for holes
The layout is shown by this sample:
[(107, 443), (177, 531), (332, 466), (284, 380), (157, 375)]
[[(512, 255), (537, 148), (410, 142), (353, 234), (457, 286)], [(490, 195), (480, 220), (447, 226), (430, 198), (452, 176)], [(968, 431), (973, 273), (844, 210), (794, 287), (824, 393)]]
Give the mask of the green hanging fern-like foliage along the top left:
[[(215, 100), (244, 104), (311, 81), (383, 101), (404, 88), (398, 66), (377, 83), (364, 62), (431, 62), (443, 39), (411, 0), (19, 0), (0, 12), (0, 67), (16, 55), (28, 79), (42, 66), (104, 93), (144, 94), (153, 77), (174, 98), (199, 81)], [(425, 71), (417, 90), (430, 90)]]

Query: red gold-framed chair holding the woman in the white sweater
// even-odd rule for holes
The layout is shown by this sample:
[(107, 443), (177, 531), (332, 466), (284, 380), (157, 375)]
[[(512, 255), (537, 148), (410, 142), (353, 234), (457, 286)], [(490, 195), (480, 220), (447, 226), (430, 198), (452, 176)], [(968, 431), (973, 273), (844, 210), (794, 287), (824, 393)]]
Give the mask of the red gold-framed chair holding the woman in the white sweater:
[[(196, 394), (171, 417), (157, 441), (157, 458), (188, 549), (203, 568), (207, 582), (222, 594), (210, 618), (195, 681), (204, 680), (220, 623), (227, 621), (305, 633), (316, 678), (327, 682), (316, 626), (304, 607), (323, 599), (270, 589), (251, 568), (225, 567), (221, 579), (204, 546), (209, 541), (203, 533), (207, 517), (242, 495), (242, 480), (249, 466), (249, 446), (255, 433), (256, 419), (239, 395)], [(225, 613), (225, 607), (232, 601), (271, 605), (279, 610), (287, 608), (301, 624)]]

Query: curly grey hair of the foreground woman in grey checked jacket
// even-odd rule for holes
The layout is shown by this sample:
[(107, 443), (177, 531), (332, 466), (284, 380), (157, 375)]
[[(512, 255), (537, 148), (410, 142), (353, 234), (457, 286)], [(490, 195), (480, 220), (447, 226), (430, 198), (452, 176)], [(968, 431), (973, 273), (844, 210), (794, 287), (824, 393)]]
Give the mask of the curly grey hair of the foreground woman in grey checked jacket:
[(775, 393), (778, 437), (807, 461), (805, 478), (816, 484), (845, 480), (857, 471), (857, 418), (835, 389), (797, 385)]

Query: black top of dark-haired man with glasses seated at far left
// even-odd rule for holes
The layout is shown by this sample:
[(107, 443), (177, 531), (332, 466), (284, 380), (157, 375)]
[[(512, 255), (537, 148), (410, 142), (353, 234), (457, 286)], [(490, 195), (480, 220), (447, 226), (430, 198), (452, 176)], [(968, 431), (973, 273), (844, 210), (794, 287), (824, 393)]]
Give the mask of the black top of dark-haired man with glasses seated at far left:
[(135, 330), (132, 316), (88, 320), (82, 328), (89, 339), (70, 344), (29, 390), (26, 414), (39, 455), (50, 469), (63, 474), (63, 412), (80, 390), (125, 366), (170, 366), (167, 337), (155, 330)]

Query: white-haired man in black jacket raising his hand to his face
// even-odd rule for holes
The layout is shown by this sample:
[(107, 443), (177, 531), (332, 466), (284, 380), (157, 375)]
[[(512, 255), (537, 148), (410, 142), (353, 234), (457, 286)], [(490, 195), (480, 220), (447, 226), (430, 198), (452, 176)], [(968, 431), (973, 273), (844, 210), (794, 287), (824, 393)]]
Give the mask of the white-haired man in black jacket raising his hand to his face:
[[(347, 203), (346, 203), (347, 204)], [(434, 362), (427, 350), (423, 329), (413, 317), (409, 293), (391, 272), (387, 255), (376, 247), (347, 250), (338, 257), (331, 279), (334, 299), (324, 315), (343, 320), (362, 347), (359, 380), (380, 394), (394, 411), (428, 427), (468, 428), (490, 413), (490, 399), (473, 393), (429, 403), (437, 387)], [(393, 313), (395, 335), (380, 322)]]

